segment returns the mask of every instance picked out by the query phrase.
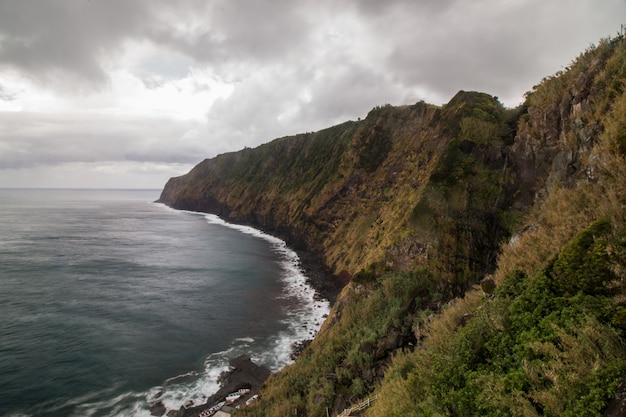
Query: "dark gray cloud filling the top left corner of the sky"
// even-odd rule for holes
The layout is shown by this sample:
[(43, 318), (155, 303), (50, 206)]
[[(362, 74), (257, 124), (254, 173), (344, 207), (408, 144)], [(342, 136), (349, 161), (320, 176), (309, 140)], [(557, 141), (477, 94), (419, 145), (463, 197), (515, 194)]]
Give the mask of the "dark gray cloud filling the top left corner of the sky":
[(47, 0), (0, 3), (0, 65), (54, 87), (108, 80), (103, 60), (141, 27), (143, 2)]

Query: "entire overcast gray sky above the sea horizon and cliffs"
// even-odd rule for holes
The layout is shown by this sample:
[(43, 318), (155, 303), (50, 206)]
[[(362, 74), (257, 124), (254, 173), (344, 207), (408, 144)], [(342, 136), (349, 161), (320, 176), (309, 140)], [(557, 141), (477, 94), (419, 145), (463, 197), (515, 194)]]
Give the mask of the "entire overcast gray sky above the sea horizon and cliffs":
[(621, 24), (625, 0), (0, 0), (0, 187), (159, 189), (378, 105), (514, 107)]

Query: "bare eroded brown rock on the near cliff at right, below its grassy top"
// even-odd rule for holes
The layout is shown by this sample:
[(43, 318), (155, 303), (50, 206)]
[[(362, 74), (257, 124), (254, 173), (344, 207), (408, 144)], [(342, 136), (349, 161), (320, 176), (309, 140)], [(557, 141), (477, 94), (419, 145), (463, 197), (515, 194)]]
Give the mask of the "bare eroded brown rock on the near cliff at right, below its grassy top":
[(605, 59), (594, 60), (576, 80), (563, 86), (559, 97), (530, 105), (522, 117), (509, 151), (521, 193), (519, 205), (542, 200), (552, 187), (593, 180), (592, 161), (583, 155), (602, 133), (597, 122), (587, 119), (599, 93), (595, 82)]

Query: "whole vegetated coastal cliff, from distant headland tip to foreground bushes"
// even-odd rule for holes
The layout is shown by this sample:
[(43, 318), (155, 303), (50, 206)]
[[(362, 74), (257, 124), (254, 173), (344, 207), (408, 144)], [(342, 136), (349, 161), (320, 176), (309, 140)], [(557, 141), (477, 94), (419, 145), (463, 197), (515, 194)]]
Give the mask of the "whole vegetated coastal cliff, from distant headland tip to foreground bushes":
[(516, 109), (464, 91), (386, 105), (171, 179), (162, 202), (349, 280), (241, 415), (323, 416), (373, 392), (372, 416), (607, 409), (626, 373), (624, 62), (623, 39), (603, 40)]

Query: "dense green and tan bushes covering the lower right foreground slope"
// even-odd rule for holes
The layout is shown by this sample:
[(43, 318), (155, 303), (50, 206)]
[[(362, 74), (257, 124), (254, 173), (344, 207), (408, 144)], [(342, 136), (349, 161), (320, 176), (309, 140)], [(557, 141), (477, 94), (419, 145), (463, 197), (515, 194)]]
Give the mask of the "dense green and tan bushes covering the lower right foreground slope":
[(623, 237), (610, 229), (596, 221), (546, 268), (514, 271), (495, 297), (477, 291), (447, 309), (424, 349), (395, 358), (371, 415), (396, 402), (410, 415), (601, 415), (626, 372), (612, 324), (626, 309), (606, 296), (616, 262), (606, 248)]

